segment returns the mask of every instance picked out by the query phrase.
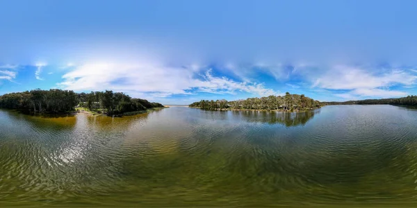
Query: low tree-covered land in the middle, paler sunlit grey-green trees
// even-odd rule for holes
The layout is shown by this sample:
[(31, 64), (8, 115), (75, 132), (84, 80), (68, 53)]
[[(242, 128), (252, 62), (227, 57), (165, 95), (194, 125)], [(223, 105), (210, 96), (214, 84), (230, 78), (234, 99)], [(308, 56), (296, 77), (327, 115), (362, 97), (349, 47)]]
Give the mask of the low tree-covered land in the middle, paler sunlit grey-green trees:
[(188, 106), (206, 110), (311, 110), (320, 107), (321, 103), (304, 96), (304, 94), (286, 92), (284, 96), (247, 98), (238, 101), (199, 101)]

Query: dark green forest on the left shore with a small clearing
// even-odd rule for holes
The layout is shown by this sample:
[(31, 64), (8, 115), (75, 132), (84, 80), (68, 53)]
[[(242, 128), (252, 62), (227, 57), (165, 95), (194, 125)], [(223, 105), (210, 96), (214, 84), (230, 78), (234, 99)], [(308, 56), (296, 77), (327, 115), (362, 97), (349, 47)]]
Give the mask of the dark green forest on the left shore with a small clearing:
[(76, 106), (90, 110), (101, 109), (108, 115), (123, 114), (163, 107), (160, 103), (131, 98), (122, 92), (75, 93), (72, 90), (33, 89), (30, 92), (16, 92), (0, 96), (0, 107), (23, 112), (63, 113), (74, 112)]

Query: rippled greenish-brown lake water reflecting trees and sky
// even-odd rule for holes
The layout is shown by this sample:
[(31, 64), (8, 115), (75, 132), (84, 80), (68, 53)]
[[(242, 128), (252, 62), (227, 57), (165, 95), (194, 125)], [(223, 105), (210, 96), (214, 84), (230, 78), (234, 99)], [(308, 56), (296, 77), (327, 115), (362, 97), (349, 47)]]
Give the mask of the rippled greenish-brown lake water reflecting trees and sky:
[(0, 207), (417, 206), (417, 111), (0, 110)]

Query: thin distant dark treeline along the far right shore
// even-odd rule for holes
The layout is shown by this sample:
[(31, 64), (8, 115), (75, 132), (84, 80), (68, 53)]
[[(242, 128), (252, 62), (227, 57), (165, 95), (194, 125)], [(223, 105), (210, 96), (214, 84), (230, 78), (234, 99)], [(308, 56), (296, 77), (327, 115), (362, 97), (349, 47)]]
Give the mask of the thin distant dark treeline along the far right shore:
[(407, 105), (417, 106), (417, 96), (407, 96), (404, 98), (384, 98), (368, 99), (362, 101), (345, 101), (345, 102), (322, 102), (323, 105)]

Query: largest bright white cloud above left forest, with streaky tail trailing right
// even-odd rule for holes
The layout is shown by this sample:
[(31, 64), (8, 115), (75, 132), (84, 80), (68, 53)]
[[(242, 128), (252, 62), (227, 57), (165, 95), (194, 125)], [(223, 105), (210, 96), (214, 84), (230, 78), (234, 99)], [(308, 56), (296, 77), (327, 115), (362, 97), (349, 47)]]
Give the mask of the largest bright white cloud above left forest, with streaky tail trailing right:
[[(195, 66), (194, 66), (195, 67)], [(237, 82), (225, 77), (213, 76), (211, 70), (196, 76), (193, 66), (167, 67), (162, 64), (84, 64), (63, 75), (58, 86), (76, 91), (113, 89), (132, 96), (167, 97), (172, 94), (209, 92), (235, 94), (249, 92), (259, 96), (276, 94), (263, 84)]]

